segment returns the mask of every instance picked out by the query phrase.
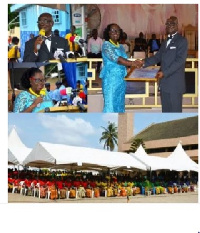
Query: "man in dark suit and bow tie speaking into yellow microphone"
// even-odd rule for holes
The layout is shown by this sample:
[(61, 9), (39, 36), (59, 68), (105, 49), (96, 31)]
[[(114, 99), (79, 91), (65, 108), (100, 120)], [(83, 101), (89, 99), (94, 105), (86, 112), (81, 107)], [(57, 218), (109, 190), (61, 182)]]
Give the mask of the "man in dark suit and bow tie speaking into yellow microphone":
[(26, 42), (24, 62), (44, 62), (55, 59), (54, 52), (56, 50), (62, 49), (64, 54), (69, 51), (67, 40), (52, 33), (54, 21), (51, 14), (41, 14), (37, 23), (39, 30), (45, 31), (45, 35), (36, 36)]

